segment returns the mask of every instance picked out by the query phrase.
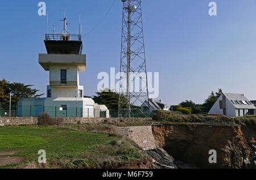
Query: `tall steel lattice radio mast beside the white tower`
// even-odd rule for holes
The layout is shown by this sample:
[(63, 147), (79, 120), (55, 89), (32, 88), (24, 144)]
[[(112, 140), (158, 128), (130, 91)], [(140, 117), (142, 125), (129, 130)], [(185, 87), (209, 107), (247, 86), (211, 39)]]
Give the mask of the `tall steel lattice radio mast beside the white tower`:
[[(118, 116), (131, 118), (140, 114), (148, 117), (150, 106), (141, 0), (121, 1), (123, 23)], [(145, 110), (134, 108), (143, 103), (148, 107)]]

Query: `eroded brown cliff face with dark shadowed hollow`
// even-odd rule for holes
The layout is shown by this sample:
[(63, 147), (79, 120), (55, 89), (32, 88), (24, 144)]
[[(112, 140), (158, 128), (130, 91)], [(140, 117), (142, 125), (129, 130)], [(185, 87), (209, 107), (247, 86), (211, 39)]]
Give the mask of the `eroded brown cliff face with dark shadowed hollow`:
[[(242, 168), (243, 159), (250, 155), (249, 139), (241, 127), (163, 125), (153, 126), (152, 132), (168, 154), (199, 168)], [(246, 132), (247, 138), (253, 137), (250, 134)], [(217, 164), (209, 163), (211, 149), (217, 152)]]

